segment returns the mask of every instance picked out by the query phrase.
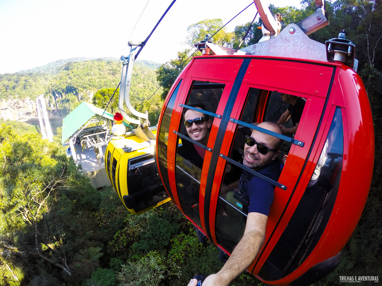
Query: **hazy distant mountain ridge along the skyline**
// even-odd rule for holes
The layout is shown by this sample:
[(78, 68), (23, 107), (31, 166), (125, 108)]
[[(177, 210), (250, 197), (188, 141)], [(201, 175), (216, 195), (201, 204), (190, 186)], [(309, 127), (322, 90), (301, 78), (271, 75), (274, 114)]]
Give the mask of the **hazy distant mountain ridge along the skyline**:
[[(34, 67), (32, 69), (23, 69), (21, 71), (15, 72), (16, 74), (29, 74), (29, 73), (45, 73), (45, 74), (57, 74), (62, 70), (62, 67), (68, 63), (81, 63), (84, 61), (119, 61), (117, 58), (112, 57), (102, 57), (102, 58), (68, 58), (68, 59), (58, 59), (57, 61), (52, 61), (51, 63), (45, 64), (44, 66)], [(147, 67), (149, 69), (157, 69), (160, 67), (160, 63), (154, 61), (137, 60), (135, 62), (138, 66)]]

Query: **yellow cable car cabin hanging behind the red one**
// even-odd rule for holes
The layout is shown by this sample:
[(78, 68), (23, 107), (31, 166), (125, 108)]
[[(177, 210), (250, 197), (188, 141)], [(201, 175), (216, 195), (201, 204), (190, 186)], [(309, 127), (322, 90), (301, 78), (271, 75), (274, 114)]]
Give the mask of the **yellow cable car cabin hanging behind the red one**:
[[(156, 134), (156, 126), (149, 127)], [(110, 140), (105, 152), (106, 173), (123, 204), (132, 214), (142, 214), (170, 200), (154, 159), (155, 145), (134, 132)]]

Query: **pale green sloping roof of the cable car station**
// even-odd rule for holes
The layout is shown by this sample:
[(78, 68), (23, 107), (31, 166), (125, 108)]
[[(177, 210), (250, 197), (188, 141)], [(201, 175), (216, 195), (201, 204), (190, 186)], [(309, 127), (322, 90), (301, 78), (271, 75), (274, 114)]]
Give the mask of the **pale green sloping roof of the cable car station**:
[[(74, 108), (74, 110), (62, 120), (61, 143), (65, 143), (66, 140), (76, 133), (78, 129), (80, 129), (95, 114), (113, 120), (113, 114), (107, 111), (104, 112), (104, 109), (98, 108), (97, 106), (84, 101), (79, 106)], [(131, 127), (125, 122), (123, 122), (123, 124)]]

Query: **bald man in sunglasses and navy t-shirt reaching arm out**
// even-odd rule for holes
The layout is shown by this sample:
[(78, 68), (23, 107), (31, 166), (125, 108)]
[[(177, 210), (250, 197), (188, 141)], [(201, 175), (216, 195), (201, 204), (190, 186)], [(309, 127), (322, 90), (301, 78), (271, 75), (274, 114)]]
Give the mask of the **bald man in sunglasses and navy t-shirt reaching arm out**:
[[(257, 126), (283, 134), (281, 127), (274, 122), (262, 122)], [(250, 136), (246, 136), (244, 166), (277, 181), (280, 176), (280, 162), (277, 155), (280, 153), (281, 145), (281, 139), (253, 130)], [(249, 198), (244, 235), (223, 268), (218, 273), (209, 275), (202, 286), (228, 286), (251, 265), (264, 242), (267, 219), (274, 197), (274, 186), (243, 171), (239, 191)], [(192, 279), (188, 284), (188, 286), (196, 285), (196, 279)]]

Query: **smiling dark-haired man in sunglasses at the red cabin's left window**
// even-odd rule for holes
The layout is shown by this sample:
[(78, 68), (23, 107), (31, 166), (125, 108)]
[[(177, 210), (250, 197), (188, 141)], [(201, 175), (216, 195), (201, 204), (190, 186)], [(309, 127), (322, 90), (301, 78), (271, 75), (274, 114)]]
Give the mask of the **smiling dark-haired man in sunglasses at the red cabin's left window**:
[[(206, 110), (206, 107), (202, 103), (189, 104), (189, 106)], [(212, 126), (212, 120), (209, 119), (208, 114), (185, 108), (183, 110), (183, 120), (189, 138), (207, 146)], [(203, 166), (205, 153), (205, 149), (187, 140), (183, 140), (182, 146), (178, 149), (180, 156), (191, 161), (200, 169), (202, 169)]]

